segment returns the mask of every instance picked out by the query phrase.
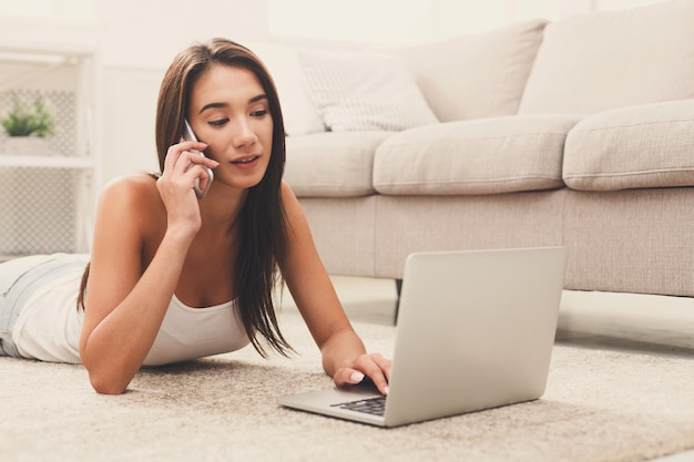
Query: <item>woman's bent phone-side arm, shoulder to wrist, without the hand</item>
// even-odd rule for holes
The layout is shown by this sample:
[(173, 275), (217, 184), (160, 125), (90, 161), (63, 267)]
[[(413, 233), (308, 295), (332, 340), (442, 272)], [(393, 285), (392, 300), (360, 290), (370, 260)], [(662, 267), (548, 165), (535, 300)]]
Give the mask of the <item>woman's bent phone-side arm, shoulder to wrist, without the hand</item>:
[[(149, 178), (150, 183), (153, 179)], [(143, 269), (144, 207), (151, 195), (142, 181), (121, 179), (101, 195), (80, 356), (92, 387), (122, 393), (142, 366), (171, 301), (186, 239), (166, 233), (156, 256)]]

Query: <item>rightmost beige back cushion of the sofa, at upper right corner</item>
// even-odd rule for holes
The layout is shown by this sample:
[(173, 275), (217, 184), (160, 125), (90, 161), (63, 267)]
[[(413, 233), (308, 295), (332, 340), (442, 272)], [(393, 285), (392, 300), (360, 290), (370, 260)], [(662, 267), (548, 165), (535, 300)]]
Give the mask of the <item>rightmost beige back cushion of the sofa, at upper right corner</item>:
[(519, 113), (595, 113), (694, 97), (694, 1), (558, 20), (528, 79)]

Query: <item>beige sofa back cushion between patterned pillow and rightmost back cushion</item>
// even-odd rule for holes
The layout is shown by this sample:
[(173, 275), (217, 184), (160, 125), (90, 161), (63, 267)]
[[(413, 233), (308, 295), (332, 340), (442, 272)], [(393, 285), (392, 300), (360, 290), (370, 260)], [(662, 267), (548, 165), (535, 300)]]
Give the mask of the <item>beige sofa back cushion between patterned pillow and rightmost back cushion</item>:
[(389, 51), (404, 59), (441, 122), (511, 115), (518, 111), (545, 23), (524, 21)]

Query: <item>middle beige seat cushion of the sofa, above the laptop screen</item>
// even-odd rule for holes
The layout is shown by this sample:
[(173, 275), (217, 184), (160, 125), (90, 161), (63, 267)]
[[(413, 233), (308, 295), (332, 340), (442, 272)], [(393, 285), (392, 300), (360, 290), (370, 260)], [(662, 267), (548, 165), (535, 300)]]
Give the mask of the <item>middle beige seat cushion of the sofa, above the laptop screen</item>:
[(374, 187), (390, 195), (497, 194), (561, 187), (574, 114), (448, 122), (400, 132), (376, 150)]

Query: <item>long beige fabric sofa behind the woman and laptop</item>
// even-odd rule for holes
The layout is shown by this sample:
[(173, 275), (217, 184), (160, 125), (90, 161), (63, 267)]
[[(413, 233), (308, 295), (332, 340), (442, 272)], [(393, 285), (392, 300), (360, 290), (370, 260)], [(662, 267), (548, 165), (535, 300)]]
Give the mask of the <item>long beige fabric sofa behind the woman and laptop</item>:
[(669, 1), (358, 53), (261, 47), (328, 271), (563, 245), (560, 326), (694, 348), (692, 30), (694, 1)]

